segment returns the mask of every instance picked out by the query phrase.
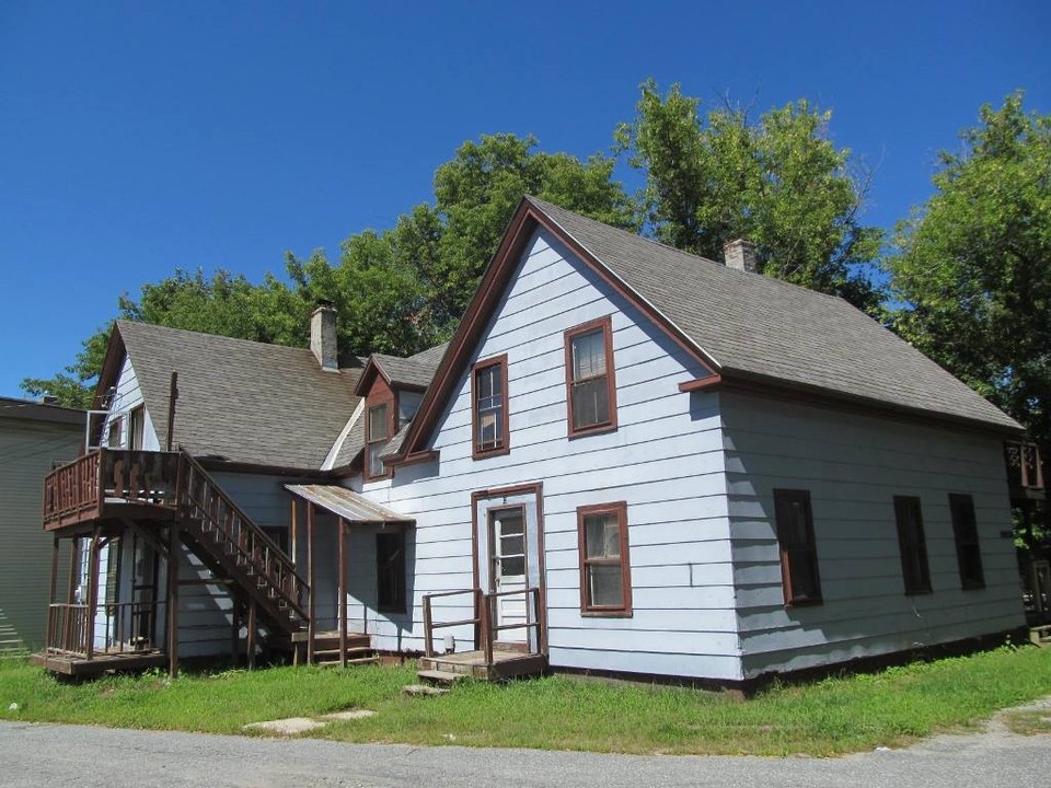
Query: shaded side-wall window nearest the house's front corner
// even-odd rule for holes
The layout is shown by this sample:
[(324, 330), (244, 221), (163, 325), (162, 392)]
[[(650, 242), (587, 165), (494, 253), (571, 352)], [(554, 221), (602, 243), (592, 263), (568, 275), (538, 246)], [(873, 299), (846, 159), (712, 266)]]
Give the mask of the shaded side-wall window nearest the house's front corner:
[(818, 546), (809, 490), (774, 490), (774, 515), (781, 548), (786, 605), (821, 604)]

